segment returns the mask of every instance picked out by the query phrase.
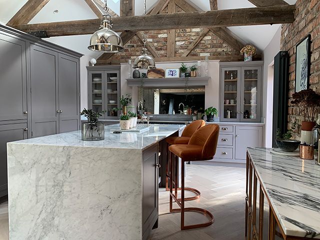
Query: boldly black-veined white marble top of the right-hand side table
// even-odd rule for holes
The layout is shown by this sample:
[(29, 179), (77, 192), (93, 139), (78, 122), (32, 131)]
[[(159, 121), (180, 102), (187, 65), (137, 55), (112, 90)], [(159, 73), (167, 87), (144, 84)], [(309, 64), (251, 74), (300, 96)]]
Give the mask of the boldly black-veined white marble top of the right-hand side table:
[(320, 239), (320, 165), (270, 148), (248, 153), (284, 233)]

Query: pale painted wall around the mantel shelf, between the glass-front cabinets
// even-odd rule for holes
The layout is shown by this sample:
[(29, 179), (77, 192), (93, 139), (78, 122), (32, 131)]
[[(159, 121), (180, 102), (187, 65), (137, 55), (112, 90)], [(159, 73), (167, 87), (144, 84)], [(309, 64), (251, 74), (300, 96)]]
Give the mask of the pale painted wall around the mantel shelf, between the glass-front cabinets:
[[(187, 66), (196, 64), (197, 61), (185, 61)], [(158, 62), (155, 64), (156, 67), (166, 69), (166, 68), (179, 68), (181, 62)], [(200, 65), (200, 74), (204, 76), (205, 73), (205, 62), (201, 61)], [(125, 78), (128, 77), (129, 64), (121, 64), (121, 94), (125, 93), (132, 94), (132, 104), (137, 105), (138, 96), (137, 96), (137, 87), (128, 87), (126, 84)], [(211, 79), (208, 82), (208, 85), (205, 87), (205, 99), (204, 107), (214, 106), (219, 112), (219, 61), (209, 60), (208, 61), (208, 76)], [(159, 78), (161, 81), (161, 78)], [(218, 114), (219, 115), (219, 114)]]

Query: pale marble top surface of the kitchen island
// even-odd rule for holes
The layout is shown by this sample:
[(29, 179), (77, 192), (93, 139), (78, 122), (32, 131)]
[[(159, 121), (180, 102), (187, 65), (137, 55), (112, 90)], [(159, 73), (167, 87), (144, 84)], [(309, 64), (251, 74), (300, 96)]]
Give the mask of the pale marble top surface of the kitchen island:
[(14, 141), (13, 143), (57, 145), (57, 146), (85, 146), (85, 147), (106, 147), (144, 149), (161, 139), (180, 130), (182, 124), (150, 124), (148, 131), (111, 133), (110, 129), (119, 128), (119, 124), (104, 126), (104, 139), (99, 141), (82, 141), (81, 131), (71, 131), (48, 136), (29, 138)]

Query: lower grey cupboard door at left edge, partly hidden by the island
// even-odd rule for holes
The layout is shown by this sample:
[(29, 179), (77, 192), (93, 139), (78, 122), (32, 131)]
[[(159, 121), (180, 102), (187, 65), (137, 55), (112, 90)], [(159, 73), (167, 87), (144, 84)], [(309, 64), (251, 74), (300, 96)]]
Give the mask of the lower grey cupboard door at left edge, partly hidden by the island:
[(0, 197), (7, 195), (6, 143), (27, 137), (26, 122), (7, 121), (0, 125)]

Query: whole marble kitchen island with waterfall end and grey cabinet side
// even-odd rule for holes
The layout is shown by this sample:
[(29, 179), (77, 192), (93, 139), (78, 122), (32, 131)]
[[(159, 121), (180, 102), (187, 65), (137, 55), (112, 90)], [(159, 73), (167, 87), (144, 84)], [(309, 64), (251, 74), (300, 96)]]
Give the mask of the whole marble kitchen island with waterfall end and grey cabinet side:
[(157, 225), (158, 144), (184, 125), (82, 141), (80, 131), (7, 143), (9, 239), (146, 239)]

